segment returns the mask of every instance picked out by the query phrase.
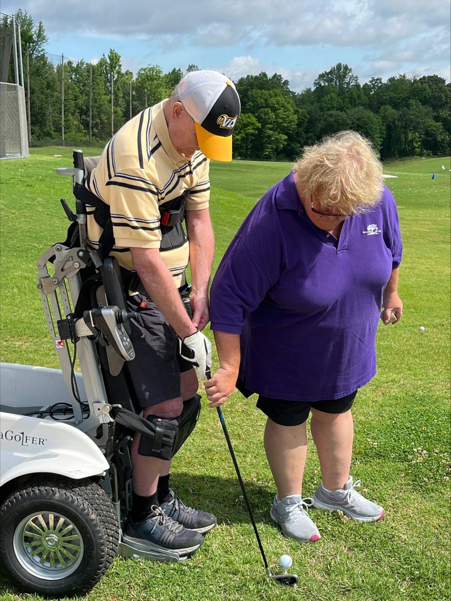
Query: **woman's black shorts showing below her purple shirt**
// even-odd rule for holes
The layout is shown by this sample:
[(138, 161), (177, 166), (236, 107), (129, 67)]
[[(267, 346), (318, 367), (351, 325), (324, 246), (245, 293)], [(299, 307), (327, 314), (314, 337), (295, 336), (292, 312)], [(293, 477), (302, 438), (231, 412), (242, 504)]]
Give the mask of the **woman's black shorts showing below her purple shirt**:
[(324, 413), (345, 413), (351, 409), (355, 395), (357, 395), (357, 390), (345, 397), (334, 400), (312, 401), (311, 403), (286, 401), (282, 398), (269, 398), (260, 395), (257, 400), (257, 407), (280, 426), (300, 426), (300, 424), (307, 421), (311, 407)]

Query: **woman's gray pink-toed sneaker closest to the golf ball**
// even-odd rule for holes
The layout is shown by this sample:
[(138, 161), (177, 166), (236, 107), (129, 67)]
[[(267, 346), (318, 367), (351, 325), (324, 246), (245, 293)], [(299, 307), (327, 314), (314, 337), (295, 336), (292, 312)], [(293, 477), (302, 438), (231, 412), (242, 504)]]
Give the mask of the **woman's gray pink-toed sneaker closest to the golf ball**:
[(280, 501), (275, 495), (269, 514), (281, 527), (284, 537), (294, 538), (299, 543), (313, 543), (321, 536), (316, 524), (308, 517), (308, 507), (312, 504), (313, 499), (302, 499), (301, 495), (284, 496)]

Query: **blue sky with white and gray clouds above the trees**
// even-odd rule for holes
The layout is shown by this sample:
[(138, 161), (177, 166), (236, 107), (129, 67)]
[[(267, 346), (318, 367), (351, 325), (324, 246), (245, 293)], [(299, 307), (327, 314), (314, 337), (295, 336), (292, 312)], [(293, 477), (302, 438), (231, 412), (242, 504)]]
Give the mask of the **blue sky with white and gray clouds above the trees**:
[(48, 53), (123, 69), (189, 64), (236, 81), (280, 73), (290, 89), (346, 63), (372, 77), (439, 75), (449, 82), (451, 0), (1, 0), (2, 13), (42, 21)]

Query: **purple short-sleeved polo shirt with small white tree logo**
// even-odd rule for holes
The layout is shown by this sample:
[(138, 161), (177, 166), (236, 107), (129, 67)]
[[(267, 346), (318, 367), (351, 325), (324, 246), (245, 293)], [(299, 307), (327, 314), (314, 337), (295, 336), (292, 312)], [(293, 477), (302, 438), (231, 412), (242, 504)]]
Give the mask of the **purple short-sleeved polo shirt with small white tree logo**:
[(241, 334), (240, 377), (271, 398), (340, 398), (376, 373), (382, 293), (399, 266), (396, 204), (386, 186), (339, 240), (305, 213), (293, 175), (251, 210), (219, 264), (211, 329)]

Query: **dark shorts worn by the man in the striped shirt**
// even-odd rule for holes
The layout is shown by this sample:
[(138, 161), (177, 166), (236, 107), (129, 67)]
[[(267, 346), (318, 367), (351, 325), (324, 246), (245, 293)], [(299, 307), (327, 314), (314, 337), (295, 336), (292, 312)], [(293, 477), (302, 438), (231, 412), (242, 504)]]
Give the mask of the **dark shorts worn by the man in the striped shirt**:
[(127, 297), (127, 306), (138, 314), (129, 320), (136, 356), (127, 362), (138, 403), (151, 407), (179, 397), (180, 373), (190, 370), (192, 363), (180, 356), (176, 333), (143, 294)]

